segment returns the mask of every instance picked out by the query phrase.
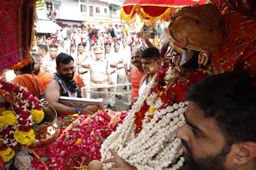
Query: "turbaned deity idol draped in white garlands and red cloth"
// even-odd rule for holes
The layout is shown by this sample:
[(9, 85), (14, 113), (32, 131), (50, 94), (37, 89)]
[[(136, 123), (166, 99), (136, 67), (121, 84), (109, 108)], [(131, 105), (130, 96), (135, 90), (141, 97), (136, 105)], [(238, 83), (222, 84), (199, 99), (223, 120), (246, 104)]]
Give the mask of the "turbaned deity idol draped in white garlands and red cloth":
[[(112, 148), (137, 169), (183, 166), (181, 142), (175, 132), (185, 123), (186, 90), (211, 74), (255, 71), (255, 18), (244, 16), (234, 21), (237, 17), (225, 16), (222, 36), (221, 16), (213, 4), (186, 7), (174, 13), (166, 30), (169, 48), (161, 51), (166, 52), (163, 66), (123, 124), (102, 144), (102, 160), (112, 157)], [(249, 30), (250, 34), (244, 34)]]

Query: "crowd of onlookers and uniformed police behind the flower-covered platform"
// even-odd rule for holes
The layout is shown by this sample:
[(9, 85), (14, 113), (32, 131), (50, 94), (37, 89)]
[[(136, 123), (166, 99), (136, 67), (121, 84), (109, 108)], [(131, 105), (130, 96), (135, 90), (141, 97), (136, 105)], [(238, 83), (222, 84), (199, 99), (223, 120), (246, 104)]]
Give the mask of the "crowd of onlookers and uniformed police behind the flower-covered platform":
[[(19, 81), (18, 76), (12, 80), (28, 87), (38, 98), (41, 98), (42, 94), (45, 95), (46, 101), (53, 106), (53, 101), (58, 102), (59, 97), (56, 100), (52, 95), (48, 98), (48, 92), (54, 93), (54, 90), (59, 89), (56, 88), (58, 86), (60, 93), (58, 92), (57, 96), (103, 98), (104, 107), (113, 111), (116, 111), (116, 98), (121, 99), (124, 91), (122, 89), (125, 89), (128, 94), (131, 93), (127, 101), (130, 105), (126, 106), (129, 109), (160, 68), (160, 41), (159, 44), (153, 44), (145, 26), (142, 29), (143, 38), (140, 38), (139, 34), (130, 34), (128, 29), (122, 30), (119, 25), (116, 25), (115, 29), (109, 26), (104, 33), (94, 25), (87, 26), (83, 31), (73, 29), (70, 33), (64, 30), (65, 28), (56, 34), (48, 35), (48, 38), (46, 35), (37, 36), (31, 63), (26, 66), (28, 70), (24, 72), (29, 77), (24, 78), (23, 74)], [(62, 66), (67, 67), (62, 69)], [(15, 71), (16, 75), (22, 73)], [(42, 84), (32, 83), (35, 77)], [(22, 81), (31, 83), (29, 85)], [(62, 81), (64, 83), (60, 83)], [(127, 83), (131, 83), (131, 87), (116, 86)], [(43, 87), (38, 88), (41, 85)], [(85, 93), (81, 93), (83, 87)], [(55, 109), (62, 114), (77, 111), (58, 107)]]

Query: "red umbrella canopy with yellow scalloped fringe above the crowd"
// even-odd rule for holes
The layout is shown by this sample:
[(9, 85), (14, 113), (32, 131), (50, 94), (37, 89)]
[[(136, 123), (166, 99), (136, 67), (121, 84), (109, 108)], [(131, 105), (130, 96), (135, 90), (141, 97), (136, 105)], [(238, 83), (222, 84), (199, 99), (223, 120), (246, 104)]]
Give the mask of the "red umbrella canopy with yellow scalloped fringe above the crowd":
[(207, 0), (126, 0), (120, 9), (120, 15), (127, 23), (134, 19), (136, 13), (142, 19), (168, 21), (179, 8), (205, 3)]

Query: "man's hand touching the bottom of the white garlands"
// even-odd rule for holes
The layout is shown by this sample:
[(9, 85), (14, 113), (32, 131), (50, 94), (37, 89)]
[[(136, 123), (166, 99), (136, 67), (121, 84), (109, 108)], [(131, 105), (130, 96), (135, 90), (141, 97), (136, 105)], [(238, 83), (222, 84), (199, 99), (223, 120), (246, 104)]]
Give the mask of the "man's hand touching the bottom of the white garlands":
[(107, 164), (109, 162), (114, 162), (115, 164), (113, 164), (112, 167), (108, 168), (107, 170), (134, 170), (134, 169), (136, 169), (136, 168), (132, 167), (131, 165), (129, 165), (127, 162), (125, 162), (122, 158), (120, 158), (116, 152), (114, 152), (111, 149), (109, 149), (109, 151), (112, 153), (112, 155), (114, 157), (105, 159), (103, 161), (103, 164)]

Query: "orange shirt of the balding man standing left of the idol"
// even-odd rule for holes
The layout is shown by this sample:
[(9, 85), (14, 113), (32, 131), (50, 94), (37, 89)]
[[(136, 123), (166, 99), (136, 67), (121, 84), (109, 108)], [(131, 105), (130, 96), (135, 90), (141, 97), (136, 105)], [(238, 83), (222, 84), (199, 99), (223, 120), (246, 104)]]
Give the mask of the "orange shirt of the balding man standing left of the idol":
[(142, 77), (145, 75), (144, 72), (138, 73), (137, 67), (132, 68), (131, 70), (131, 101), (133, 100), (134, 97), (139, 96), (139, 82), (142, 79)]

